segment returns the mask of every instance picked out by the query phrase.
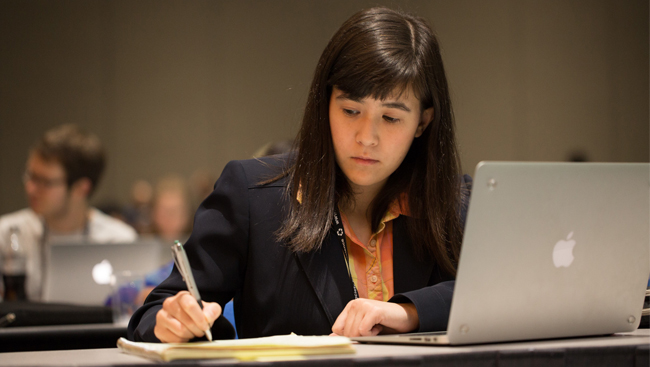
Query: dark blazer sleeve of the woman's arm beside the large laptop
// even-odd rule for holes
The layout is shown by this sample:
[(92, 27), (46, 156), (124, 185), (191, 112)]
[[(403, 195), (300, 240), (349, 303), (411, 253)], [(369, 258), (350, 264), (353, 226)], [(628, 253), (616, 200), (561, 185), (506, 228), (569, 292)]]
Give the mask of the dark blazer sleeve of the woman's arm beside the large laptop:
[[(469, 175), (462, 177), (461, 183), (461, 206), (460, 221), (463, 231), (465, 219), (472, 189), (472, 178)], [(437, 272), (437, 270), (434, 270)], [(437, 275), (437, 274), (436, 274)], [(433, 278), (441, 279), (440, 276)], [(396, 294), (389, 302), (412, 303), (420, 320), (420, 327), (417, 331), (443, 331), (447, 330), (449, 312), (451, 311), (451, 300), (454, 295), (455, 280), (445, 280), (429, 287)]]

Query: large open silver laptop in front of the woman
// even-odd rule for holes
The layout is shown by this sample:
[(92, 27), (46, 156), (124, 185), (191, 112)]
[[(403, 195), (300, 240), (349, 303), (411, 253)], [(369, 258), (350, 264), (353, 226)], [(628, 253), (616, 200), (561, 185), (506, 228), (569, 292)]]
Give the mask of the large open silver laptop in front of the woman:
[(648, 163), (479, 163), (447, 333), (353, 339), (459, 345), (635, 330), (649, 212)]

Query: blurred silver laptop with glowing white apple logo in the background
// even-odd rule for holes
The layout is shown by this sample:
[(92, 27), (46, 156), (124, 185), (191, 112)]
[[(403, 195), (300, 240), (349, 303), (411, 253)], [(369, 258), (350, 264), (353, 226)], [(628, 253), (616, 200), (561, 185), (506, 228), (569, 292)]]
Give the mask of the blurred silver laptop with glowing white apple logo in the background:
[(104, 305), (112, 292), (112, 274), (131, 271), (144, 276), (160, 265), (160, 251), (155, 240), (49, 246), (43, 301)]

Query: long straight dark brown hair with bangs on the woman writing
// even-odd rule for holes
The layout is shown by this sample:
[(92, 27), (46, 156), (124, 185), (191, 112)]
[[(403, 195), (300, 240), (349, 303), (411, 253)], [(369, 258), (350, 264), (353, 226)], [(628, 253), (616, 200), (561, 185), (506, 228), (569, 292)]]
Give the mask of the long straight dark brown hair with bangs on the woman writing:
[(353, 197), (332, 144), (329, 100), (334, 86), (353, 99), (385, 99), (412, 88), (421, 111), (433, 107), (431, 123), (371, 204), (371, 225), (375, 232), (391, 201), (406, 193), (415, 252), (455, 275), (462, 239), (461, 170), (440, 48), (423, 19), (387, 8), (353, 15), (321, 55), (296, 139), (295, 162), (286, 172), (291, 204), (278, 237), (294, 251), (319, 249), (335, 205)]

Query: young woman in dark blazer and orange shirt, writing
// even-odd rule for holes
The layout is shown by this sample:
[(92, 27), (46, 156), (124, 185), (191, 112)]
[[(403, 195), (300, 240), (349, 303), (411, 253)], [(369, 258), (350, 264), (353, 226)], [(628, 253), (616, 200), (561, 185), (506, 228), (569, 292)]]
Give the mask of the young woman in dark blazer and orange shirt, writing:
[(227, 336), (231, 298), (244, 338), (446, 328), (469, 178), (426, 23), (386, 8), (346, 21), (296, 141), (292, 154), (228, 163), (186, 244), (203, 309), (174, 269), (131, 339)]

